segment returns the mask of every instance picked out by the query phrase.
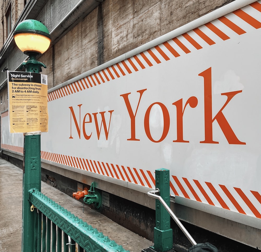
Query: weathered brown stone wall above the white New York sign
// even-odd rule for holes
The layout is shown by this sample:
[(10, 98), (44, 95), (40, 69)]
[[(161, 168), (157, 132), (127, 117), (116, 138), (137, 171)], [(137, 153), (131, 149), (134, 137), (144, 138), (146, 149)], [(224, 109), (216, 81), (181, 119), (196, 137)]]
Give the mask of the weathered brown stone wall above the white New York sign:
[(49, 88), (229, 2), (104, 0), (41, 57), (48, 66), (44, 73), (48, 74)]

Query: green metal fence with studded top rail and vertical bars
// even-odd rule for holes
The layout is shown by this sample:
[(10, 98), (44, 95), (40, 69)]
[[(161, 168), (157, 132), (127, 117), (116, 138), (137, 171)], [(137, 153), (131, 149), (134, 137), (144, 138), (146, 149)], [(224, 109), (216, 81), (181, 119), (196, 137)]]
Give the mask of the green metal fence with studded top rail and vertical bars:
[[(29, 202), (33, 205), (31, 209), (34, 210), (34, 237), (31, 240), (34, 243), (34, 251), (53, 252), (56, 251), (56, 247), (57, 252), (62, 251), (63, 231), (63, 247), (65, 252), (69, 251), (69, 246), (70, 252), (74, 252), (75, 243), (79, 246), (78, 251), (129, 252), (115, 241), (110, 240), (108, 236), (104, 236), (96, 228), (88, 225), (82, 219), (79, 219), (46, 197), (39, 190), (29, 190)], [(70, 244), (68, 236), (71, 238)]]

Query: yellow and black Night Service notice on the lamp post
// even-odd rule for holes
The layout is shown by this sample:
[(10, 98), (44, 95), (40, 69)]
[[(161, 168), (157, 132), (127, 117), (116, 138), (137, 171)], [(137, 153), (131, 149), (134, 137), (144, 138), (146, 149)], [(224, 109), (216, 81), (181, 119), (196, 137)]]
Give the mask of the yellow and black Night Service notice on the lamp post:
[(10, 133), (48, 132), (47, 75), (7, 71)]

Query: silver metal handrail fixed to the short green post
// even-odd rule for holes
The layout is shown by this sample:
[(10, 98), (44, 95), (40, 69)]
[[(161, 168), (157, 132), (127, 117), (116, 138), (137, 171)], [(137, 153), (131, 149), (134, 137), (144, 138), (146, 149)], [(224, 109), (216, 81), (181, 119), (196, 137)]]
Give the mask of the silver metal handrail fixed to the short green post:
[(187, 229), (182, 225), (182, 223), (180, 222), (180, 220), (177, 218), (177, 216), (171, 211), (171, 209), (169, 208), (169, 206), (167, 205), (167, 203), (163, 200), (163, 198), (159, 195), (157, 195), (159, 193), (159, 189), (156, 188), (156, 190), (154, 191), (150, 191), (148, 192), (148, 196), (158, 199), (161, 204), (165, 207), (165, 209), (168, 211), (169, 215), (174, 219), (174, 221), (177, 223), (177, 225), (179, 226), (179, 228), (182, 230), (182, 232), (187, 236), (188, 240), (192, 243), (192, 245), (196, 245), (197, 243), (195, 242), (195, 240), (192, 238), (192, 236), (189, 234), (189, 232), (187, 231)]

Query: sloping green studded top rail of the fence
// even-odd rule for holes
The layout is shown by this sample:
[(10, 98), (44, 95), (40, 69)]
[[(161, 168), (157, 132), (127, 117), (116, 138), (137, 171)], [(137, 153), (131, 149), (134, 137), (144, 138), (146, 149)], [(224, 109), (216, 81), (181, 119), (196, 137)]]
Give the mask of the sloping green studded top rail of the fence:
[[(108, 252), (129, 252), (125, 250), (121, 245), (118, 245), (114, 240), (110, 240), (108, 236), (103, 235), (102, 232), (99, 232), (96, 228), (93, 228), (91, 225), (88, 225), (82, 219), (79, 219), (77, 216), (64, 209), (62, 206), (55, 203), (53, 200), (42, 194), (37, 189), (31, 189), (29, 193), (29, 202), (33, 204), (32, 210), (37, 208), (39, 212), (43, 213), (44, 218), (46, 217), (49, 222), (47, 225), (43, 225), (43, 229), (46, 229), (46, 237), (48, 241), (46, 244), (50, 244), (51, 239), (51, 222), (54, 224), (52, 234), (54, 237), (52, 241), (56, 239), (56, 226), (59, 230), (59, 245), (61, 247), (61, 231), (66, 233), (66, 236), (70, 236), (71, 241), (69, 244), (75, 247), (77, 243), (82, 249), (90, 251), (90, 247), (93, 251), (108, 251)], [(44, 223), (44, 222), (43, 222)], [(41, 227), (41, 222), (38, 224), (38, 227)], [(41, 230), (40, 230), (41, 231)], [(40, 232), (41, 233), (41, 232)], [(45, 234), (45, 232), (43, 232)], [(45, 236), (45, 235), (44, 235)], [(37, 236), (35, 236), (37, 237)], [(41, 237), (39, 235), (38, 237)], [(40, 240), (40, 239), (39, 239)], [(56, 241), (56, 240), (55, 240)], [(44, 241), (45, 242), (45, 241)], [(68, 239), (66, 238), (65, 245), (68, 245)], [(38, 243), (36, 243), (38, 245)], [(53, 244), (55, 246), (55, 243)], [(40, 247), (40, 245), (39, 245)], [(64, 248), (68, 249), (68, 246)], [(40, 250), (38, 250), (40, 252)], [(52, 250), (52, 251), (55, 251)], [(68, 250), (66, 250), (68, 251)], [(70, 251), (75, 251), (70, 250)]]

